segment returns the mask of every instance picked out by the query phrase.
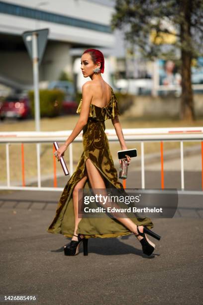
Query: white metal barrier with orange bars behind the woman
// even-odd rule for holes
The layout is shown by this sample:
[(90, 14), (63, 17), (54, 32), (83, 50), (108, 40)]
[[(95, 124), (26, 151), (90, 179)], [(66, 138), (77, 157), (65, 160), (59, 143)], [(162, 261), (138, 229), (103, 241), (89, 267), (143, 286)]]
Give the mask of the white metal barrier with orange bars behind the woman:
[[(141, 143), (141, 185), (145, 188), (145, 168), (144, 168), (144, 143), (145, 142), (160, 142), (161, 143), (161, 183), (163, 184), (163, 142), (180, 142), (180, 156), (181, 156), (181, 188), (184, 190), (184, 151), (183, 142), (200, 142), (202, 150), (202, 189), (203, 189), (203, 127), (192, 128), (144, 128), (144, 129), (122, 129), (125, 142), (140, 142)], [(41, 170), (40, 170), (40, 144), (53, 143), (57, 141), (64, 143), (72, 131), (60, 132), (1, 132), (0, 144), (5, 144), (6, 150), (6, 173), (7, 185), (0, 185), (3, 190), (47, 190), (47, 191), (62, 191), (61, 187), (42, 187), (41, 186)], [(106, 129), (105, 133), (109, 142), (118, 142), (117, 135), (114, 129)], [(74, 140), (75, 142), (82, 142), (82, 132)], [(12, 186), (10, 183), (10, 167), (9, 167), (9, 144), (21, 143), (22, 145), (22, 160), (23, 160), (23, 143), (36, 143), (37, 154), (37, 186)], [(69, 171), (70, 175), (73, 173), (73, 145), (69, 146)], [(23, 174), (23, 173), (22, 173)], [(54, 173), (56, 179), (56, 172)], [(124, 186), (125, 187), (125, 186)]]

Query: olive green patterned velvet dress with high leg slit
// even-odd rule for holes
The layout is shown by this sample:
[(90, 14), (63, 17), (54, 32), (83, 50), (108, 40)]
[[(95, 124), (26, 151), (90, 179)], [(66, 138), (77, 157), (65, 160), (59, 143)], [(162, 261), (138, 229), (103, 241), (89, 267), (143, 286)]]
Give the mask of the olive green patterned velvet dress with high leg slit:
[[(81, 111), (82, 99), (77, 109)], [(120, 115), (117, 100), (113, 89), (111, 88), (111, 100), (106, 107), (98, 107), (91, 104), (88, 123), (83, 128), (83, 147), (77, 167), (65, 185), (62, 195), (59, 199), (56, 215), (48, 227), (50, 233), (60, 233), (67, 237), (72, 237), (74, 233), (74, 207), (73, 207), (73, 189), (81, 180), (85, 171), (85, 161), (90, 158), (94, 165), (102, 174), (106, 188), (123, 188), (122, 183), (118, 181), (117, 171), (114, 167), (113, 159), (109, 150), (108, 139), (105, 134), (104, 121)], [(91, 188), (89, 179), (87, 179), (85, 188)], [(137, 225), (146, 225), (153, 227), (150, 218), (131, 218)], [(131, 232), (121, 222), (115, 218), (82, 218), (79, 222), (77, 233), (85, 235), (85, 238), (109, 238), (128, 235)]]

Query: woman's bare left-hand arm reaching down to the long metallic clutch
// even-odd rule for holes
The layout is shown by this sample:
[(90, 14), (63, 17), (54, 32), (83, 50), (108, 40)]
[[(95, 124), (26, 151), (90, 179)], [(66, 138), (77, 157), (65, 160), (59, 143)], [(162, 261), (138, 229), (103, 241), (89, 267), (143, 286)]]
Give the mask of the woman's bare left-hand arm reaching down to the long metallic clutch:
[(61, 155), (64, 155), (64, 152), (67, 150), (68, 146), (75, 140), (75, 138), (80, 134), (83, 127), (88, 122), (88, 117), (89, 117), (89, 113), (90, 113), (90, 104), (92, 101), (92, 90), (91, 90), (90, 81), (85, 83), (82, 87), (82, 99), (83, 99), (83, 102), (82, 102), (82, 106), (81, 106), (80, 118), (79, 118), (75, 128), (73, 129), (71, 135), (66, 140), (65, 144), (62, 145), (57, 150), (58, 160), (60, 159)]

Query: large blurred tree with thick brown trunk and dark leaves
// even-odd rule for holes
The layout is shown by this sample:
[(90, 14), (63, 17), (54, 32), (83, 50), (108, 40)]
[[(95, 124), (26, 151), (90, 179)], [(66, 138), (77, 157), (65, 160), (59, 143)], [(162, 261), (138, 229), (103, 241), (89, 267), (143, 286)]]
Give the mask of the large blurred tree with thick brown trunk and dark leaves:
[[(180, 119), (195, 120), (191, 63), (203, 55), (203, 0), (116, 0), (111, 28), (123, 30), (125, 40), (150, 60), (176, 57), (179, 50)], [(173, 43), (166, 43), (167, 35)]]

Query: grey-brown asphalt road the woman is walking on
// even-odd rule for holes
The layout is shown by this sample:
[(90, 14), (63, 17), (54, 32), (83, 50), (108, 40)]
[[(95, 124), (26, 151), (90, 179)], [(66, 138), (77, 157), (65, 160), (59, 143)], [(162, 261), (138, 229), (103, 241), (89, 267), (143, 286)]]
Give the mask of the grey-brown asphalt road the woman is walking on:
[[(132, 186), (130, 186), (132, 187)], [(0, 194), (0, 296), (35, 295), (12, 304), (202, 304), (203, 197), (179, 195), (172, 219), (153, 219), (162, 236), (154, 255), (131, 234), (90, 239), (89, 255), (64, 256), (70, 241), (46, 232), (60, 192)]]

